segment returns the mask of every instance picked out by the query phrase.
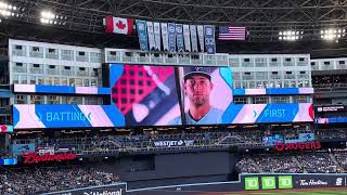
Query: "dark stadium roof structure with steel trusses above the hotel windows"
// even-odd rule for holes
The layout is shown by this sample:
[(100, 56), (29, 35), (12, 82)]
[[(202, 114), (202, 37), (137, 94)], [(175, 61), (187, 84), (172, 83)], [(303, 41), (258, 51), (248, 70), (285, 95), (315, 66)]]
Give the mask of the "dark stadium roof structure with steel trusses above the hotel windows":
[[(321, 53), (321, 50), (333, 55), (347, 53), (344, 48), (347, 37), (333, 44), (321, 38), (321, 30), (346, 28), (346, 0), (8, 0), (7, 3), (16, 6), (13, 16), (0, 16), (0, 36), (8, 38), (139, 49), (136, 35), (104, 34), (103, 18), (113, 15), (247, 27), (246, 42), (218, 41), (218, 52), (256, 52), (267, 42), (264, 52), (268, 53)], [(40, 13), (44, 10), (59, 16), (56, 24), (42, 25)], [(291, 43), (281, 41), (279, 34), (283, 30), (300, 31), (303, 38)]]

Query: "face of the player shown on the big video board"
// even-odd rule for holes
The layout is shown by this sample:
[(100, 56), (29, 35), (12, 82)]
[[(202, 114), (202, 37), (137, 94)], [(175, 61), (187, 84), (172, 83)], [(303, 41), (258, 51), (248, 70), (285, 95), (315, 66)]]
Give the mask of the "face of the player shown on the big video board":
[(202, 106), (209, 103), (213, 83), (204, 76), (191, 76), (184, 83), (184, 91), (191, 104)]

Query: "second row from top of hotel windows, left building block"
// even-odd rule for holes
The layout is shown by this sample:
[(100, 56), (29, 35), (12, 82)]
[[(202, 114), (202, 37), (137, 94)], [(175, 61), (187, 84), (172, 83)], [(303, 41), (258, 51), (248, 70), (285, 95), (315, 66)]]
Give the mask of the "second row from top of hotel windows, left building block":
[(46, 75), (63, 75), (79, 77), (100, 77), (101, 69), (93, 67), (59, 66), (49, 64), (11, 63), (12, 73), (29, 73)]

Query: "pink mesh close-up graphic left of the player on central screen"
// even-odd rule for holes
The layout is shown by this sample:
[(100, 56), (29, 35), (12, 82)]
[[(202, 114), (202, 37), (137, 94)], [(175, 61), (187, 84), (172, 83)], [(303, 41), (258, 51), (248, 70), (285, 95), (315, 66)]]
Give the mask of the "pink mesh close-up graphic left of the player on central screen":
[[(178, 104), (175, 67), (110, 64), (112, 105), (127, 126), (167, 126), (166, 114)], [(180, 110), (175, 110), (180, 115)]]

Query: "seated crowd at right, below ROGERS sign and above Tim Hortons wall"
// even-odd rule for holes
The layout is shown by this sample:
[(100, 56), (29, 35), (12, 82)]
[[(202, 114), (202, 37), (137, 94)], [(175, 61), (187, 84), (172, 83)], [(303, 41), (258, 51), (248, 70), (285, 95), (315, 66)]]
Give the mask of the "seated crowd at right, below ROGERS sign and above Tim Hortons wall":
[(347, 153), (258, 154), (243, 156), (239, 172), (338, 173), (347, 170)]

